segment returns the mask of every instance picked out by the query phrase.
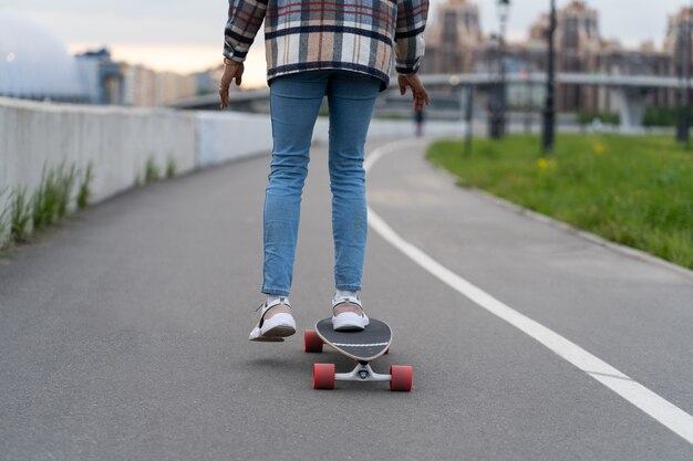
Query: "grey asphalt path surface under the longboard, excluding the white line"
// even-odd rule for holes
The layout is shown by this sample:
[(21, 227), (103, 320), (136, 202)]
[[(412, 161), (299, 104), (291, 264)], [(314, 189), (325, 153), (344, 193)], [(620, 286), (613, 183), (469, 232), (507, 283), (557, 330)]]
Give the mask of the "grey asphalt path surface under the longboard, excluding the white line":
[[(371, 145), (372, 150), (375, 145)], [(379, 160), (371, 207), (513, 308), (693, 413), (693, 277), (453, 185), (424, 145)], [(324, 147), (312, 153), (291, 296), (329, 314)], [(2, 460), (690, 460), (693, 446), (453, 291), (374, 231), (363, 298), (414, 390), (311, 388), (346, 360), (246, 338), (261, 298), (267, 158), (95, 207), (0, 263)], [(268, 441), (268, 442), (265, 442)]]

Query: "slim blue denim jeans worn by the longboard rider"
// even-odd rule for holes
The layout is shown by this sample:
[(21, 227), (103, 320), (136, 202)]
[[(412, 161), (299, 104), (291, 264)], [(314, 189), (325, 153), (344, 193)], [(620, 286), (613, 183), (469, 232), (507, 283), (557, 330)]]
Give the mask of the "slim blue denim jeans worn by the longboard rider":
[(380, 80), (351, 71), (307, 71), (270, 81), (272, 161), (265, 192), (262, 293), (289, 295), (301, 192), (323, 95), (330, 113), (334, 282), (360, 291), (366, 239), (363, 150)]

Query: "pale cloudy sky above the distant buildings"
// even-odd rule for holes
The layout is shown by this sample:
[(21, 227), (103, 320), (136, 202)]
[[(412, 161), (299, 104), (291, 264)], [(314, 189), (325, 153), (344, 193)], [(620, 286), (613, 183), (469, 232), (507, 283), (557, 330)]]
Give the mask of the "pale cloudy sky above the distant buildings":
[[(438, 3), (431, 0), (430, 22)], [(557, 0), (558, 7), (569, 0)], [(484, 32), (498, 28), (496, 0), (476, 0)], [(604, 38), (634, 46), (643, 40), (660, 45), (666, 18), (687, 1), (588, 0), (600, 12)], [(521, 40), (549, 0), (511, 0), (509, 40)], [(157, 71), (194, 72), (221, 60), (227, 0), (0, 0), (0, 11), (31, 19), (66, 43), (71, 52), (108, 45), (116, 60), (143, 63)], [(425, 59), (425, 57), (424, 57)], [(265, 78), (265, 49), (259, 35), (246, 63), (249, 84)]]

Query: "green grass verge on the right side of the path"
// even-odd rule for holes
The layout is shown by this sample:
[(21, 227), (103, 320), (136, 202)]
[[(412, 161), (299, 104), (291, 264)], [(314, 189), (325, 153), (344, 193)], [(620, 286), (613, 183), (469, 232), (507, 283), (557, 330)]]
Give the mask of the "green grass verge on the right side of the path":
[(693, 154), (670, 137), (561, 135), (432, 144), (427, 158), (476, 187), (608, 240), (693, 269)]

